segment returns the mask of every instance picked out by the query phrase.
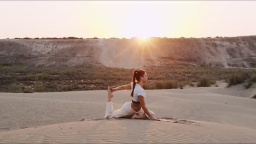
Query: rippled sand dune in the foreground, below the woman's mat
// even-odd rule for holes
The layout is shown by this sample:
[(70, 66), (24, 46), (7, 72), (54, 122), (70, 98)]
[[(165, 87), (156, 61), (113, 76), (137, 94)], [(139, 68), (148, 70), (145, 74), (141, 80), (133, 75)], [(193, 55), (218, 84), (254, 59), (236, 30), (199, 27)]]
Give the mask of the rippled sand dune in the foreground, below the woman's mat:
[(210, 122), (201, 125), (113, 119), (46, 125), (0, 133), (1, 143), (255, 143), (256, 130)]

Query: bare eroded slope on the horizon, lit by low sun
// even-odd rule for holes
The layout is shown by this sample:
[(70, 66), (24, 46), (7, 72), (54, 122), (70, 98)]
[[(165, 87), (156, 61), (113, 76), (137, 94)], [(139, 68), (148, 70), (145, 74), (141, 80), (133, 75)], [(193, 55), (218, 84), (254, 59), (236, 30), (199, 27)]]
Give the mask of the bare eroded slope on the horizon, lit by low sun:
[(145, 68), (166, 63), (256, 68), (256, 36), (230, 38), (2, 39), (0, 62), (103, 64)]

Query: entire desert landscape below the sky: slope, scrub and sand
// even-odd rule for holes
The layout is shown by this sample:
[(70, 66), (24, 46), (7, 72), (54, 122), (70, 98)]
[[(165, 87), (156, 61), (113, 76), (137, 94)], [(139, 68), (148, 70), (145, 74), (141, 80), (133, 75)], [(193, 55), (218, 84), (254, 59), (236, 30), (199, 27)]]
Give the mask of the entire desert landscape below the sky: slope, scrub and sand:
[[(256, 143), (255, 46), (255, 35), (0, 40), (0, 143)], [(107, 86), (134, 68), (165, 121), (103, 118)], [(114, 110), (129, 95), (114, 92)]]

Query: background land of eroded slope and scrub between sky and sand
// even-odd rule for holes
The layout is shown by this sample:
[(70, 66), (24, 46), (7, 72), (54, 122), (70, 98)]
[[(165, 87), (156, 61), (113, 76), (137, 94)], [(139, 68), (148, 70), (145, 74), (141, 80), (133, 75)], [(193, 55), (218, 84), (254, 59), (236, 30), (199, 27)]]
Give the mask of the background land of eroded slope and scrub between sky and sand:
[[(255, 46), (255, 35), (0, 39), (0, 92), (104, 90), (130, 81), (135, 68), (146, 69), (155, 84), (228, 81), (232, 74), (256, 75)], [(162, 88), (151, 86), (145, 89)]]

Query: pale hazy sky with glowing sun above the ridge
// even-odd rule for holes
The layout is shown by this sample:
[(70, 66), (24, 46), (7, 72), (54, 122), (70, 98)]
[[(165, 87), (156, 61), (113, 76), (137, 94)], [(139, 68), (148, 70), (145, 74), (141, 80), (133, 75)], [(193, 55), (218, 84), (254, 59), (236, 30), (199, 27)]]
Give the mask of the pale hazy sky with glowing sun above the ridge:
[(256, 1), (0, 1), (0, 39), (256, 35)]

